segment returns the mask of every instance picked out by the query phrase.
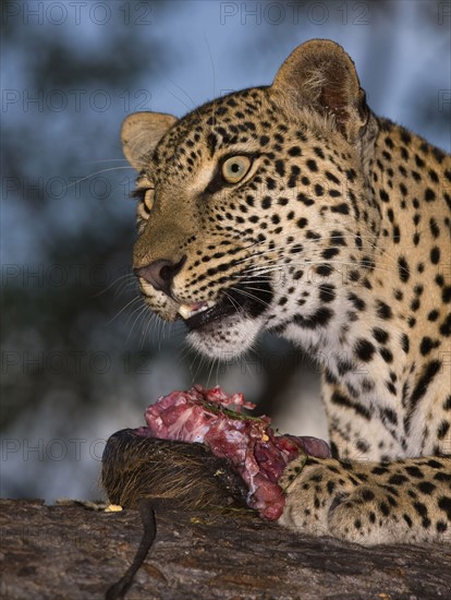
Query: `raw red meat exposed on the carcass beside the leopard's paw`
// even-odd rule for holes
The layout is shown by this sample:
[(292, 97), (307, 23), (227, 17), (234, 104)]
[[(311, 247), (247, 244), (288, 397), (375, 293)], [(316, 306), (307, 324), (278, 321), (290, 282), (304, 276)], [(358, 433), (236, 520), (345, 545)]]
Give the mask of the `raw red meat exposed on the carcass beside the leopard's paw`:
[[(187, 392), (172, 392), (150, 405), (147, 427), (139, 435), (207, 445), (218, 457), (231, 461), (248, 488), (247, 504), (267, 520), (280, 517), (284, 506), (278, 480), (290, 460), (300, 454), (329, 456), (329, 448), (315, 437), (276, 435), (268, 417), (251, 417), (242, 409), (255, 405), (242, 394), (228, 396), (219, 386), (195, 385)], [(313, 451), (313, 452), (312, 452)]]

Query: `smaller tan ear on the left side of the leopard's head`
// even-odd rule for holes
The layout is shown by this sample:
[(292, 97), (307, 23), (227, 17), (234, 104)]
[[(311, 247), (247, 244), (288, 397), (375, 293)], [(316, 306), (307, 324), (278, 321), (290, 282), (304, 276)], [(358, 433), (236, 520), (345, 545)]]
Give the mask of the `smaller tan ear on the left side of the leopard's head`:
[(121, 140), (123, 153), (132, 167), (138, 171), (143, 169), (143, 157), (154, 151), (175, 122), (175, 117), (162, 112), (135, 112), (126, 117)]

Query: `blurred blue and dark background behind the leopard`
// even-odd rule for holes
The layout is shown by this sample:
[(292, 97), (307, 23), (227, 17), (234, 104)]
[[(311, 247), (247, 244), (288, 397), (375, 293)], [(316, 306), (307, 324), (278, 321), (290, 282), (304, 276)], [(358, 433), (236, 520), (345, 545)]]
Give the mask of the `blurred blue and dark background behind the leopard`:
[(326, 436), (319, 369), (264, 337), (211, 367), (131, 276), (135, 173), (119, 130), (268, 84), (332, 38), (368, 103), (450, 151), (450, 3), (3, 1), (1, 495), (95, 499), (106, 439), (192, 383), (242, 391), (282, 431)]

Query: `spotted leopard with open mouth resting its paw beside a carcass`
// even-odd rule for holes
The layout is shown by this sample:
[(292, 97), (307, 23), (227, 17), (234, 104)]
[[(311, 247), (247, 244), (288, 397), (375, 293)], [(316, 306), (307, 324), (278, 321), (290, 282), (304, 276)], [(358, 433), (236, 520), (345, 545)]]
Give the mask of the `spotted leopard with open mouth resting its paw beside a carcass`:
[[(451, 157), (369, 108), (332, 40), (270, 85), (122, 125), (145, 303), (211, 359), (270, 332), (321, 367), (331, 456), (289, 463), (278, 523), (451, 539)], [(319, 400), (318, 400), (319, 401)]]

